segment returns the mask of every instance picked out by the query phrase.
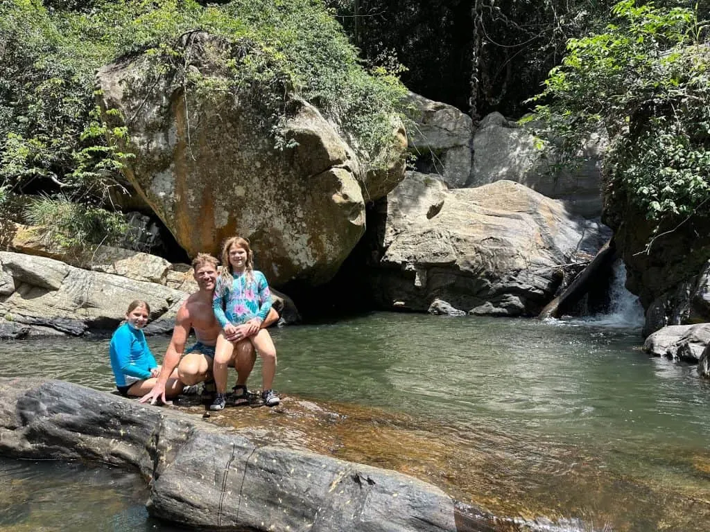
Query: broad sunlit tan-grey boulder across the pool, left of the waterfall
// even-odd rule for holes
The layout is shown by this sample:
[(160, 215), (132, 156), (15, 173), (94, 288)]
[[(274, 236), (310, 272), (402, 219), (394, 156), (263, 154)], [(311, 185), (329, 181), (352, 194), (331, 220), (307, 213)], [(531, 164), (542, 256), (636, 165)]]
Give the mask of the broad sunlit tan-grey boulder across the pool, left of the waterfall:
[(388, 195), (373, 293), (384, 308), (537, 315), (562, 269), (591, 260), (610, 236), (560, 201), (510, 181), (449, 190), (412, 172)]

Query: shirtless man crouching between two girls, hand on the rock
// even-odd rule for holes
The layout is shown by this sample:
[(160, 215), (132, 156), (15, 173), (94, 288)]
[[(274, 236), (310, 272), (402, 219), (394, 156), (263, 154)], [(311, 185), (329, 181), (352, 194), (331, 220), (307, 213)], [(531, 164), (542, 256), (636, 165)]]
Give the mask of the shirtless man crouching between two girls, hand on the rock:
[[(197, 281), (199, 289), (180, 305), (178, 316), (175, 318), (173, 338), (170, 339), (170, 345), (165, 352), (160, 375), (158, 375), (153, 389), (141, 398), (141, 403), (151, 401), (151, 404), (155, 404), (160, 400), (164, 404), (170, 404), (170, 401), (165, 399), (165, 384), (176, 366), (178, 366), (178, 377), (183, 384), (197, 384), (212, 378), (214, 346), (217, 344), (217, 336), (222, 331), (212, 312), (212, 294), (218, 275), (217, 264), (217, 259), (207, 253), (198, 253), (195, 260), (192, 261), (195, 281)], [(261, 323), (261, 327), (268, 327), (277, 320), (278, 314), (271, 309), (266, 320)], [(187, 336), (190, 335), (191, 328), (195, 330), (197, 343), (185, 350), (185, 343), (187, 343)], [(227, 337), (228, 340), (239, 342), (236, 344), (234, 355), (229, 363), (234, 366), (237, 372), (235, 394), (241, 392), (236, 396), (237, 404), (248, 402), (246, 379), (256, 361), (256, 353), (254, 353), (253, 345), (248, 339), (249, 336), (249, 325), (245, 323), (237, 326), (234, 334)], [(210, 384), (214, 386), (214, 383)]]

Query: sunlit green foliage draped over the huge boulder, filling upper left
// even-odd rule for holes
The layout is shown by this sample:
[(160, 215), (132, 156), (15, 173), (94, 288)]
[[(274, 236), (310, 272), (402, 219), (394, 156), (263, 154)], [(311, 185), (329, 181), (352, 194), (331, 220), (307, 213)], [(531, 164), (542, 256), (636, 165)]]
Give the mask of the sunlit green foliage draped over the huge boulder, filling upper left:
[[(224, 42), (222, 77), (189, 68), (180, 36), (198, 30)], [(365, 72), (320, 0), (6, 0), (0, 34), (0, 182), (89, 204), (106, 203), (130, 156), (119, 149), (125, 128), (109, 128), (94, 104), (96, 70), (118, 57), (145, 52), (153, 75), (173, 74), (202, 99), (250, 98), (275, 132), (287, 94), (312, 101), (372, 166), (386, 159), (404, 94), (391, 74)]]

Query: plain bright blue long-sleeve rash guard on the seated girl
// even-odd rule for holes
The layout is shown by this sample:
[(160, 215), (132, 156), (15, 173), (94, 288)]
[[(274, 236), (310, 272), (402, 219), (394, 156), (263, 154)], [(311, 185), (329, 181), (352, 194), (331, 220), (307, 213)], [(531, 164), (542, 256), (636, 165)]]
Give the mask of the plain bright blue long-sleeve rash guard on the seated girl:
[(141, 379), (151, 378), (151, 370), (158, 367), (148, 348), (146, 335), (140, 329), (124, 323), (111, 336), (111, 370), (116, 386), (129, 386)]

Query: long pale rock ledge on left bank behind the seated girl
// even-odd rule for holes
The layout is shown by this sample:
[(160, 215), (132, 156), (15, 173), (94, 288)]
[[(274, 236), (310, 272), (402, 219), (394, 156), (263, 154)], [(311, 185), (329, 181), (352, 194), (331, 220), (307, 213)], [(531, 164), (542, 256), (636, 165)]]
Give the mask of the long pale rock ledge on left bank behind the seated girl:
[(148, 301), (153, 321), (170, 324), (187, 296), (161, 284), (9, 252), (0, 252), (0, 291), (0, 316), (38, 333), (49, 328), (72, 336), (115, 328), (134, 299)]

